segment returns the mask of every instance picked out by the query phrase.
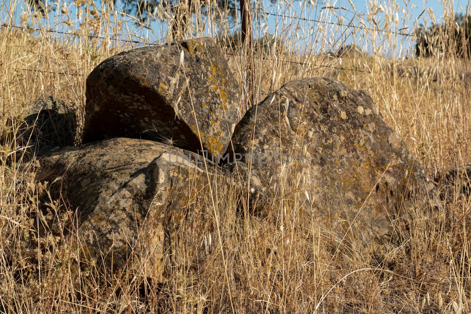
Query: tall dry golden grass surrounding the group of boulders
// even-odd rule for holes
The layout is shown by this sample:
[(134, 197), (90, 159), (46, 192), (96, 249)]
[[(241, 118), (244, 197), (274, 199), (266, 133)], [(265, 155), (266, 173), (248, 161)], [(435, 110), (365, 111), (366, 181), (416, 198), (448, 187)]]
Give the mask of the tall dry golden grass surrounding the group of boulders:
[[(57, 12), (50, 21), (55, 30), (63, 31), (60, 27), (67, 25), (66, 31), (73, 35), (47, 32), (50, 29), (44, 21), (27, 12), (22, 13), (21, 23), (41, 30), (11, 28), (21, 13), (16, 12), (15, 1), (1, 16), (7, 25), (0, 29), (2, 137), (18, 128), (17, 121), (43, 94), (73, 102), (83, 110), (85, 79), (94, 66), (139, 46), (89, 37), (115, 39), (118, 35), (114, 34), (121, 33), (128, 34), (121, 39), (136, 40), (129, 34), (144, 37), (146, 29), (131, 25), (129, 30), (130, 24), (123, 23), (123, 16), (111, 5), (103, 5), (105, 9), (95, 14), (88, 6), (78, 13), (80, 23), (67, 10)], [(292, 8), (284, 6), (283, 14), (294, 16)], [(388, 14), (394, 13), (391, 9)], [(326, 9), (322, 20), (335, 14)], [(215, 10), (207, 21), (217, 25), (220, 16), (224, 12)], [(358, 16), (365, 25), (372, 24), (371, 17)], [(368, 27), (347, 28), (345, 33), (338, 25), (308, 29), (293, 25), (296, 20), (278, 18), (280, 33), (290, 40), (284, 41), (283, 49), (256, 51), (256, 101), (288, 81), (333, 77), (368, 91), (384, 120), (406, 140), (430, 176), (471, 163), (468, 60), (385, 58), (385, 47), (401, 44), (389, 32), (389, 24), (381, 25), (381, 32)], [(390, 19), (393, 25), (394, 18)], [(194, 29), (183, 35), (203, 34), (202, 21), (204, 16), (198, 12)], [(296, 53), (300, 40), (290, 37), (290, 32), (298, 26), (301, 38), (325, 44)], [(220, 30), (228, 34), (227, 28)], [(157, 37), (164, 38), (164, 29), (160, 32)], [(374, 42), (371, 54), (339, 58), (326, 53), (346, 37), (369, 38)], [(380, 43), (377, 38), (382, 39)], [(240, 50), (227, 52), (241, 83), (243, 115), (247, 60)], [(410, 229), (401, 231), (402, 245), (375, 254), (371, 248), (355, 243), (339, 246), (326, 238), (315, 217), (303, 208), (302, 195), (285, 195), (289, 186), (275, 195), (264, 219), (237, 217), (235, 196), (215, 193), (214, 207), (209, 200), (194, 205), (195, 211), (206, 213), (201, 216), (208, 219), (203, 228), (191, 221), (179, 222), (179, 230), (193, 236), (181, 236), (172, 243), (172, 262), (160, 282), (125, 272), (103, 283), (98, 268), (76, 266), (80, 254), (67, 232), (74, 212), (57, 200), (50, 201), (47, 211), (39, 210), (43, 206), (40, 196), (47, 195), (48, 187), (34, 182), (35, 162), (22, 159), (24, 151), (14, 138), (4, 137), (0, 144), (0, 312), (471, 312), (471, 198), (461, 194), (459, 186), (437, 185), (444, 195), (439, 206), (418, 203)], [(8, 159), (16, 162), (8, 163)], [(44, 229), (48, 225), (53, 229)]]

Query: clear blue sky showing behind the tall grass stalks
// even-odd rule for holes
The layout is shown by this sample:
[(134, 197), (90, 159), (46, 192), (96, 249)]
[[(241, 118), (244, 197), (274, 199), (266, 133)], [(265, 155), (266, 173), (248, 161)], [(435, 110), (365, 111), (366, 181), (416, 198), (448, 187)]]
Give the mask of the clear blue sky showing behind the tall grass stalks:
[[(11, 3), (10, 1), (12, 0), (0, 0), (0, 3), (4, 2), (6, 5), (4, 8), (8, 8)], [(49, 2), (52, 1), (57, 2), (57, 0), (49, 0)], [(260, 37), (267, 33), (276, 34), (278, 37), (285, 38), (287, 42), (295, 42), (295, 49), (300, 53), (318, 53), (321, 51), (322, 47), (325, 51), (335, 50), (342, 44), (342, 42), (345, 42), (346, 44), (355, 42), (365, 51), (370, 51), (373, 46), (382, 47), (384, 55), (394, 58), (401, 57), (410, 53), (410, 49), (413, 46), (411, 37), (393, 35), (392, 38), (390, 38), (388, 36), (383, 36), (382, 32), (380, 32), (376, 38), (371, 38), (371, 36), (368, 37), (367, 33), (362, 32), (359, 29), (357, 29), (357, 31), (360, 32), (354, 32), (356, 30), (354, 27), (346, 27), (345, 25), (352, 23), (353, 25), (356, 25), (356, 27), (363, 27), (362, 25), (370, 28), (374, 27), (371, 20), (368, 22), (368, 13), (371, 13), (374, 8), (381, 8), (381, 10), (374, 15), (374, 19), (377, 24), (379, 24), (380, 28), (382, 28), (385, 23), (388, 23), (387, 28), (391, 28), (393, 31), (401, 30), (400, 32), (409, 33), (414, 29), (415, 19), (421, 15), (425, 8), (431, 9), (437, 23), (442, 22), (443, 15), (446, 12), (441, 2), (422, 0), (376, 0), (375, 2), (378, 4), (377, 6), (372, 6), (371, 2), (373, 1), (351, 0), (355, 10), (352, 8), (349, 0), (299, 0), (292, 2), (278, 0), (277, 4), (270, 4), (269, 1), (272, 0), (259, 0), (258, 2), (265, 12), (294, 16), (296, 18), (301, 17), (304, 20), (261, 14), (260, 16), (265, 16), (262, 20), (254, 20), (254, 36)], [(398, 2), (397, 5), (391, 5), (391, 3), (396, 2)], [(71, 4), (70, 0), (59, 0), (59, 3), (67, 4), (70, 16), (76, 15), (76, 8)], [(314, 3), (314, 5), (311, 5), (311, 3)], [(453, 7), (455, 11), (459, 12), (466, 10), (469, 3), (470, 0), (455, 0)], [(322, 9), (323, 7), (329, 6), (333, 8)], [(13, 17), (15, 24), (19, 24), (20, 22), (22, 7), (23, 12), (25, 12), (24, 4), (19, 2), (16, 8), (16, 14)], [(118, 11), (122, 11), (122, 8), (120, 7), (116, 9)], [(383, 11), (385, 12), (383, 13)], [(390, 16), (395, 16), (395, 13), (398, 13), (398, 25), (387, 21), (385, 16), (388, 12), (390, 12)], [(403, 20), (407, 15), (408, 17)], [(0, 17), (3, 20), (2, 22), (9, 19), (9, 15), (6, 11), (4, 11)], [(55, 24), (57, 25), (57, 21), (61, 22), (61, 19), (65, 19), (64, 16), (54, 16), (53, 14), (51, 14), (49, 18), (49, 27), (54, 27)], [(132, 21), (130, 18), (127, 19)], [(322, 22), (314, 22), (313, 20)], [(430, 24), (431, 21), (432, 18), (430, 11), (426, 10), (423, 12), (422, 16), (420, 16), (418, 23), (423, 24), (426, 22), (427, 24)], [(73, 22), (75, 25), (78, 25), (83, 21), (75, 20)], [(200, 23), (205, 23), (205, 21), (200, 21)], [(146, 41), (148, 42), (163, 43), (165, 34), (168, 32), (168, 23), (166, 22), (153, 22), (149, 24), (150, 29), (136, 27), (131, 22), (124, 26), (124, 31), (122, 32), (123, 37), (129, 39), (129, 34), (134, 34), (136, 35), (133, 37), (134, 40), (142, 40), (142, 38), (146, 38)], [(300, 28), (298, 28), (298, 26)], [(59, 27), (59, 30), (67, 31), (67, 27), (67, 25), (62, 25)], [(320, 33), (317, 32), (319, 27), (323, 30)], [(310, 28), (311, 31), (308, 32)], [(198, 35), (214, 36), (215, 31), (217, 32), (217, 27), (214, 27), (214, 25), (211, 24), (206, 24), (205, 33)], [(298, 33), (299, 39), (296, 37), (296, 33)], [(310, 36), (309, 33), (319, 33), (321, 36), (314, 37)], [(326, 40), (324, 44), (322, 44), (322, 38)]]

